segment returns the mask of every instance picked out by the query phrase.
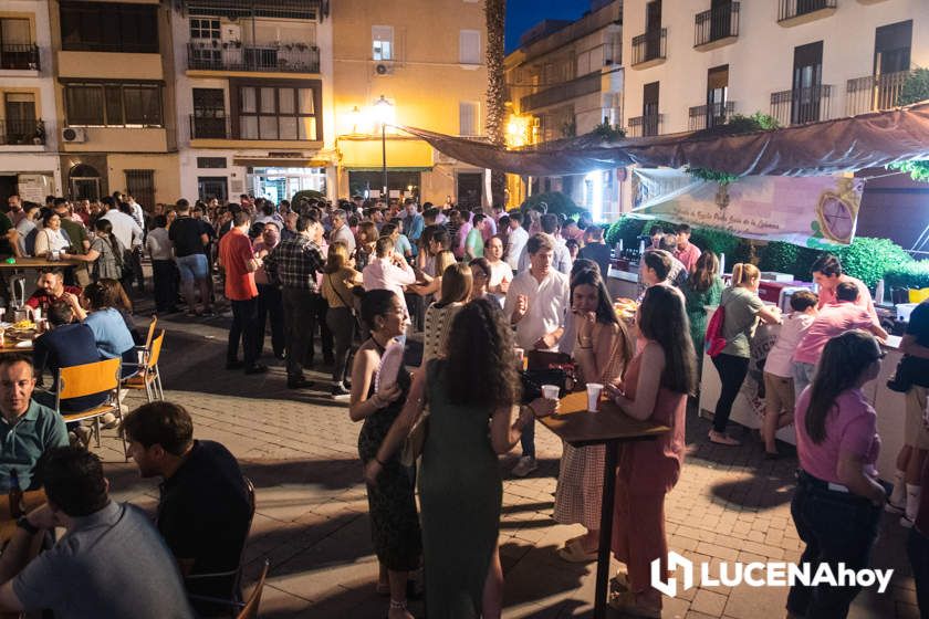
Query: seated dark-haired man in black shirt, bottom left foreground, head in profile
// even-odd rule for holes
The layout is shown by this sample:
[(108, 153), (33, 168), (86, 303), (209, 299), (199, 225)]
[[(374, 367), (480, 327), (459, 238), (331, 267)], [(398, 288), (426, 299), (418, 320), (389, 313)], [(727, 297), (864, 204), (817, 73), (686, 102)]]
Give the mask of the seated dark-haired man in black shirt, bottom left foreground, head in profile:
[[(239, 567), (251, 524), (251, 501), (236, 458), (212, 441), (194, 440), (194, 422), (179, 405), (150, 402), (123, 421), (129, 455), (143, 478), (160, 476), (158, 531), (185, 577)], [(228, 599), (234, 578), (188, 578), (195, 595)], [(238, 592), (237, 592), (238, 595)], [(194, 600), (201, 616), (229, 608)]]

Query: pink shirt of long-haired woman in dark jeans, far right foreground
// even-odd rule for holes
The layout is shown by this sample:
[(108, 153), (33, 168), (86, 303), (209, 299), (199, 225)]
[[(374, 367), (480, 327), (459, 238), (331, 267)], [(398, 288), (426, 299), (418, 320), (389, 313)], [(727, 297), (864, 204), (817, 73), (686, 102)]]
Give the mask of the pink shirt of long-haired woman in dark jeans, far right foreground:
[(880, 437), (877, 433), (877, 413), (860, 389), (848, 389), (835, 399), (826, 416), (826, 438), (816, 444), (806, 433), (806, 409), (810, 407), (807, 387), (796, 401), (796, 453), (800, 466), (820, 480), (842, 483), (838, 479), (841, 452), (859, 455), (866, 473), (877, 476), (877, 455), (880, 452)]

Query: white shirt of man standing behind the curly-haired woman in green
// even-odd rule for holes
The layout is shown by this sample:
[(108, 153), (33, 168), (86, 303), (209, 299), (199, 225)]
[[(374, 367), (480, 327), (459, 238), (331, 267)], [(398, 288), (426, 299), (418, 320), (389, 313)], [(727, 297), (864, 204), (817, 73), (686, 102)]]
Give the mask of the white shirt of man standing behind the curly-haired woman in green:
[[(516, 323), (516, 344), (521, 348), (532, 350), (542, 336), (564, 327), (565, 315), (571, 308), (571, 288), (567, 276), (554, 269), (542, 283), (532, 276), (530, 271), (523, 271), (510, 283), (503, 314), (511, 318), (516, 308), (519, 295), (529, 298), (529, 308), (522, 319)], [(512, 319), (512, 318), (511, 318)], [(547, 350), (557, 350), (557, 344)]]

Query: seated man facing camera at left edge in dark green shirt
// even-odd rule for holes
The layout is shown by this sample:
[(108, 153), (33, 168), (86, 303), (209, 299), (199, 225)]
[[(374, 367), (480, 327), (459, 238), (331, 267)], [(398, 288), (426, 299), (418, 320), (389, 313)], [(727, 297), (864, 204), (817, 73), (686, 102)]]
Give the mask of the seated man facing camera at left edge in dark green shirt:
[(61, 416), (32, 399), (35, 377), (25, 355), (0, 355), (0, 492), (10, 489), (15, 470), (20, 487), (42, 485), (35, 479), (35, 463), (54, 447), (67, 444)]

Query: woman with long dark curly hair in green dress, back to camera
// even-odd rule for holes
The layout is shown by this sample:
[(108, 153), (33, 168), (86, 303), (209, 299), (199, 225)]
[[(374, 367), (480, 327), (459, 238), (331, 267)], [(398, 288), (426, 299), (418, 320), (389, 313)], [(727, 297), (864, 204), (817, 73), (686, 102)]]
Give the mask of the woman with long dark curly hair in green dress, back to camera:
[(367, 480), (383, 474), (380, 462), (390, 459), (428, 405), (419, 470), (426, 606), (430, 617), (495, 619), (503, 596), (498, 455), (516, 444), (533, 417), (551, 415), (557, 402), (539, 398), (513, 419), (520, 394), (512, 329), (500, 305), (488, 298), (458, 312), (446, 358), (424, 369), (377, 458), (368, 463)]

